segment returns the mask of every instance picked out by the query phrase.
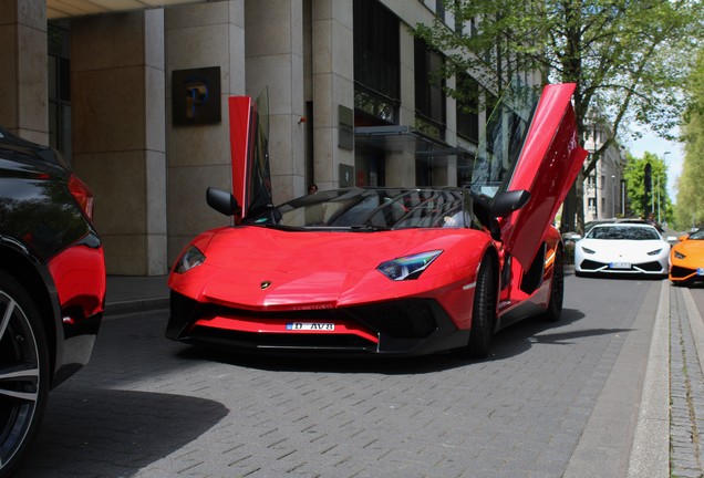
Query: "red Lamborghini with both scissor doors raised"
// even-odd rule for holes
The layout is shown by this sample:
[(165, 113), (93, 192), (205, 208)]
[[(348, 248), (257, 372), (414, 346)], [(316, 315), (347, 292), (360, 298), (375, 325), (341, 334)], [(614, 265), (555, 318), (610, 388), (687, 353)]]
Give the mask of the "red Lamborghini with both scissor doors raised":
[(268, 206), (262, 110), (242, 100), (232, 117), (253, 121), (232, 144), (258, 146), (232, 153), (235, 194), (207, 194), (237, 225), (204, 232), (176, 261), (166, 335), (287, 353), (485, 356), (497, 330), (557, 320), (563, 246), (551, 222), (586, 157), (573, 90), (500, 104), (470, 188), (335, 189), (279, 207)]

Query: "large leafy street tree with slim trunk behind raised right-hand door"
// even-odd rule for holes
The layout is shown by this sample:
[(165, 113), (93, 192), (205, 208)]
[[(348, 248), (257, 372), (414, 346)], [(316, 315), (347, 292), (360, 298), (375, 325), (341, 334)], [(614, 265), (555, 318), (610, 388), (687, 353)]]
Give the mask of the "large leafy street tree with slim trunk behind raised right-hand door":
[[(666, 135), (680, 121), (691, 52), (704, 38), (700, 0), (455, 0), (445, 6), (455, 25), (464, 25), (462, 32), (436, 20), (417, 24), (416, 34), (451, 52), (447, 76), (470, 72), (493, 93), (536, 71), (543, 82), (576, 83), (579, 132), (588, 115), (613, 137), (632, 122)], [(574, 207), (562, 217), (568, 229), (583, 228), (583, 179), (613, 137), (577, 178), (567, 201)]]

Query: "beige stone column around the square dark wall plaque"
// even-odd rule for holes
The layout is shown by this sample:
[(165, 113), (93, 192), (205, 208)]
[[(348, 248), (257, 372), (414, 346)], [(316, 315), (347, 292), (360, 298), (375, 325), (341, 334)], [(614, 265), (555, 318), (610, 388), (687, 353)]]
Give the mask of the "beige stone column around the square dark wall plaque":
[[(166, 63), (168, 260), (173, 263), (196, 235), (231, 222), (208, 207), (205, 193), (210, 186), (225, 190), (232, 186), (227, 97), (246, 94), (245, 0), (167, 9)], [(172, 73), (210, 66), (220, 67), (221, 122), (174, 126)]]

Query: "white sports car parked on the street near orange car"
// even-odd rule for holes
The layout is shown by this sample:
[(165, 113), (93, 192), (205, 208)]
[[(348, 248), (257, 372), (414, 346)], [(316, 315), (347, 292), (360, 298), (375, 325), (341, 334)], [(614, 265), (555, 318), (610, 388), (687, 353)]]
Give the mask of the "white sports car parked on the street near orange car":
[(601, 224), (574, 245), (577, 276), (666, 276), (670, 245), (648, 224)]

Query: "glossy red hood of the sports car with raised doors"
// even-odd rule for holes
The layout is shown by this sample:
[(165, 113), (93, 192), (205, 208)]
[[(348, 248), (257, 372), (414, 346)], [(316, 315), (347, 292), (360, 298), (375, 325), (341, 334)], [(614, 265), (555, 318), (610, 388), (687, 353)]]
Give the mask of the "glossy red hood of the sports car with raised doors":
[[(456, 246), (473, 238), (487, 240), (484, 232), (472, 229), (311, 232), (224, 228), (204, 248), (205, 262), (187, 272), (187, 281), (172, 274), (169, 287), (207, 302), (252, 309), (382, 300), (394, 293), (413, 294), (437, 276), (466, 268), (482, 248), (468, 252), (468, 247)], [(420, 280), (394, 282), (376, 270), (384, 261), (432, 250), (444, 252), (423, 272), (424, 284)], [(462, 276), (467, 278), (467, 271)]]

